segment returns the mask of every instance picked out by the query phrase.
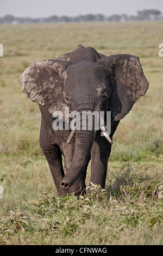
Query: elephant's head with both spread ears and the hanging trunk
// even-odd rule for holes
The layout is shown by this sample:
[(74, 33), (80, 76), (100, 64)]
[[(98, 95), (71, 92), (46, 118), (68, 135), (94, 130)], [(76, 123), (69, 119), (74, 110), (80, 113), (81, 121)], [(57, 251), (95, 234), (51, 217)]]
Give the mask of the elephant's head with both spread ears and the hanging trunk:
[[(148, 89), (138, 57), (106, 57), (82, 45), (55, 59), (34, 62), (18, 81), (29, 99), (45, 106), (51, 114), (64, 112), (66, 106), (78, 112), (105, 110), (111, 111), (115, 121), (121, 120)], [(73, 160), (62, 188), (70, 187), (82, 175), (95, 134), (94, 129), (76, 130)]]

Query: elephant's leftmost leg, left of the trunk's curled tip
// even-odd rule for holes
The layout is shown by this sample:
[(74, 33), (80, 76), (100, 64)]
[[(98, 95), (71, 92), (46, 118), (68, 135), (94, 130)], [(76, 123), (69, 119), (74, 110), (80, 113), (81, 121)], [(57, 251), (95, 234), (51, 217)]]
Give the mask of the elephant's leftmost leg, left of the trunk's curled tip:
[(62, 154), (58, 145), (55, 144), (52, 132), (47, 125), (41, 120), (40, 130), (40, 147), (45, 155), (49, 168), (53, 176), (54, 184), (57, 187), (58, 196), (65, 197), (68, 191), (62, 190), (60, 182), (64, 178), (64, 169), (62, 166)]

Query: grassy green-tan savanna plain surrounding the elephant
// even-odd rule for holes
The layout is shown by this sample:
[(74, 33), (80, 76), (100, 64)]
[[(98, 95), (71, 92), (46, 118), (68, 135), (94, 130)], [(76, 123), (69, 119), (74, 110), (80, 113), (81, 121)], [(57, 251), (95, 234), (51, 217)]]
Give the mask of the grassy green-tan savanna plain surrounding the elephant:
[[(162, 245), (163, 23), (1, 25), (0, 244)], [(105, 190), (59, 198), (39, 145), (41, 114), (17, 78), (78, 44), (140, 58), (149, 89), (113, 138)], [(63, 159), (64, 161), (64, 159)], [(90, 164), (86, 184), (90, 178)]]

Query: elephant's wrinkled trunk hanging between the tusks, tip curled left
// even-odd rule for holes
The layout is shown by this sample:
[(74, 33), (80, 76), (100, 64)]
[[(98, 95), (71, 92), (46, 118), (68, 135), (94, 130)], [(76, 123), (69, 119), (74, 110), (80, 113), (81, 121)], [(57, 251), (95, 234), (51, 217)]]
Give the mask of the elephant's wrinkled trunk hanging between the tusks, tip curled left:
[[(82, 122), (82, 111), (88, 111), (88, 108), (82, 107), (76, 108), (80, 113), (80, 120)], [(95, 107), (93, 107), (95, 109)], [(89, 111), (93, 112), (93, 110)], [(93, 116), (92, 116), (93, 117)], [(78, 123), (79, 124), (79, 123)], [(81, 123), (80, 123), (81, 124)], [(65, 175), (64, 179), (61, 181), (60, 186), (63, 189), (70, 187), (76, 182), (80, 175), (84, 174), (85, 166), (90, 159), (91, 148), (93, 144), (93, 139), (95, 137), (95, 119), (92, 118), (92, 129), (91, 130), (82, 130), (82, 125), (76, 129), (76, 145), (74, 149), (73, 160), (68, 170), (68, 173)]]

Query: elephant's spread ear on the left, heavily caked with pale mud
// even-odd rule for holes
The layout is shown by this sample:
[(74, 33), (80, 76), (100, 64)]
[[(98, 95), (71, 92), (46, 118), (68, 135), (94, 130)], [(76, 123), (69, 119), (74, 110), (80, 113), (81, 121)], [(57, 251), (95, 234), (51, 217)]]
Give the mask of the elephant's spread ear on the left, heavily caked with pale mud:
[(70, 62), (54, 59), (33, 62), (18, 78), (22, 91), (30, 100), (45, 106), (51, 114), (63, 111), (67, 106), (63, 88), (68, 65)]

